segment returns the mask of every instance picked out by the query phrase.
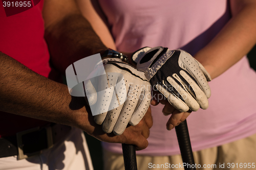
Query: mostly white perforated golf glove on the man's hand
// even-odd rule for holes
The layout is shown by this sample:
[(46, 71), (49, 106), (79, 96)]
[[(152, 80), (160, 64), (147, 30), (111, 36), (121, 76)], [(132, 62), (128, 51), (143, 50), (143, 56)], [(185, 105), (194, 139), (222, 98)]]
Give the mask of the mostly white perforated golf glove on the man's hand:
[[(144, 72), (118, 58), (103, 59), (105, 74), (86, 81), (88, 103), (94, 120), (106, 133), (120, 135), (128, 123), (135, 126), (151, 101), (151, 85)], [(94, 76), (92, 76), (94, 77)]]

